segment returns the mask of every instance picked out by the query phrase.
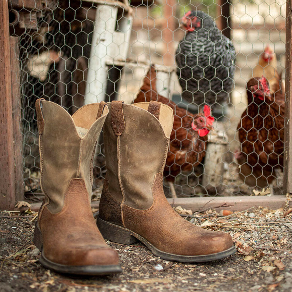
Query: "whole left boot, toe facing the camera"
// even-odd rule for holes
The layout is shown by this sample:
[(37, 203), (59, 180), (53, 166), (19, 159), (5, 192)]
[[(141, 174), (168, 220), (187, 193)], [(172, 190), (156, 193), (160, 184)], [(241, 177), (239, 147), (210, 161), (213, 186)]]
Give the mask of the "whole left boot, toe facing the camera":
[(93, 156), (106, 103), (85, 105), (71, 117), (59, 105), (38, 99), (36, 113), (45, 194), (34, 230), (40, 263), (69, 274), (121, 272), (118, 254), (102, 238), (90, 207)]

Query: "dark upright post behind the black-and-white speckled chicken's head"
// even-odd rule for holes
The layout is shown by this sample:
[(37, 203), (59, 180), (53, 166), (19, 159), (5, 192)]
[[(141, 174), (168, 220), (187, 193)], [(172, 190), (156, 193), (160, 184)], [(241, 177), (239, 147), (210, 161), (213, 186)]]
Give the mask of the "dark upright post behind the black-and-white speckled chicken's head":
[(217, 26), (222, 33), (231, 39), (231, 17), (230, 17), (230, 3), (228, 0), (218, 0), (217, 6)]

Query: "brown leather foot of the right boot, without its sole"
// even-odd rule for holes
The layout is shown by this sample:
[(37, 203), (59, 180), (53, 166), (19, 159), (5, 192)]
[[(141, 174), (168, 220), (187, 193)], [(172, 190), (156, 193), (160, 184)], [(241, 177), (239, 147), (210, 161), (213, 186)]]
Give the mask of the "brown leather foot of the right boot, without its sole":
[(161, 251), (183, 256), (218, 253), (232, 246), (229, 234), (205, 230), (178, 215), (166, 200), (162, 179), (162, 173), (155, 176), (152, 186), (154, 201), (150, 208), (137, 210), (124, 205), (124, 227), (138, 233)]

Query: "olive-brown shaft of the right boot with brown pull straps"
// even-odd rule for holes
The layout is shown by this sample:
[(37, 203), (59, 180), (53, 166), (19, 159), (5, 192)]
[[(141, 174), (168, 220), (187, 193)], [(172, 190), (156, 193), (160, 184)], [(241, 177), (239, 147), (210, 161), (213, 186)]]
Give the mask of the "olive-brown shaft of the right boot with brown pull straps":
[(132, 208), (152, 205), (155, 175), (163, 172), (173, 111), (160, 102), (108, 104), (104, 142), (109, 193)]

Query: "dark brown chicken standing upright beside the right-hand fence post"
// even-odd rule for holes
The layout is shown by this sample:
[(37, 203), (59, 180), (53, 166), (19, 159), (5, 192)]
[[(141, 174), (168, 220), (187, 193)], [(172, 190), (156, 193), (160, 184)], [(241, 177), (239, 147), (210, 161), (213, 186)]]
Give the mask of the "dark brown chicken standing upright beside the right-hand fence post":
[(247, 83), (248, 106), (237, 130), (241, 151), (235, 154), (239, 176), (250, 187), (267, 187), (283, 169), (284, 93), (275, 86), (270, 93), (265, 77)]

